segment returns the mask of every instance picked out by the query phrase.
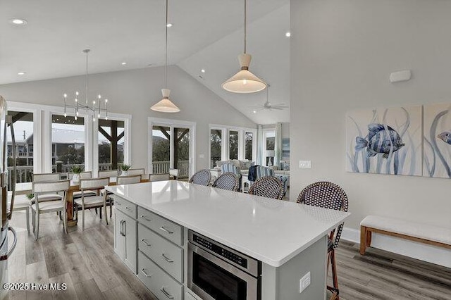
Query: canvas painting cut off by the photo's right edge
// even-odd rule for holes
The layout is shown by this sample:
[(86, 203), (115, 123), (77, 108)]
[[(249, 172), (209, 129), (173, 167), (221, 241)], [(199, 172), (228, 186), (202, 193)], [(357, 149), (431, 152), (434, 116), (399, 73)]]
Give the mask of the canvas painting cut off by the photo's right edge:
[(451, 178), (451, 104), (424, 106), (423, 175)]

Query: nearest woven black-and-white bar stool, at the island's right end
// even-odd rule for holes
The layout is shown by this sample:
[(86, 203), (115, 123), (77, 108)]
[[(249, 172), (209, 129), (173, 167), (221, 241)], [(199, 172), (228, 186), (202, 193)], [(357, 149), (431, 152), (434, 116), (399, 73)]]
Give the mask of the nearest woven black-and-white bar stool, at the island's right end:
[[(302, 192), (297, 197), (297, 203), (307, 204), (311, 206), (319, 206), (328, 209), (334, 209), (336, 211), (347, 211), (348, 199), (345, 191), (338, 185), (332, 182), (315, 182), (302, 189)], [(334, 228), (328, 235), (328, 266), (329, 263), (332, 269), (333, 287), (326, 286), (327, 289), (332, 292), (332, 298), (340, 299), (340, 291), (338, 289), (338, 277), (337, 277), (337, 263), (335, 261), (335, 249), (338, 248), (340, 237), (342, 234), (344, 223), (340, 224), (338, 228)], [(335, 235), (335, 238), (334, 238)]]

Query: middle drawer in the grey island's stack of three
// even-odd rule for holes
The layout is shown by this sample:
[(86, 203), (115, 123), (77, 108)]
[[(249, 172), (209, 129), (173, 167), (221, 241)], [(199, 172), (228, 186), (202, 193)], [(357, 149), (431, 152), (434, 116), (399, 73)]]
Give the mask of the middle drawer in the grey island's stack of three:
[(138, 226), (138, 249), (176, 280), (183, 282), (182, 248), (140, 224)]

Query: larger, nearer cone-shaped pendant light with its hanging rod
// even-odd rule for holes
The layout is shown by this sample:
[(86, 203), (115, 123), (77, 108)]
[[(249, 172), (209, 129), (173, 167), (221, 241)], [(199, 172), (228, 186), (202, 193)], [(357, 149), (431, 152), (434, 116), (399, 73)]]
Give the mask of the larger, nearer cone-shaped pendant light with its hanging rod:
[(255, 93), (266, 88), (266, 82), (249, 71), (252, 56), (246, 53), (247, 0), (245, 0), (245, 53), (238, 56), (241, 70), (223, 83), (223, 89), (233, 93)]

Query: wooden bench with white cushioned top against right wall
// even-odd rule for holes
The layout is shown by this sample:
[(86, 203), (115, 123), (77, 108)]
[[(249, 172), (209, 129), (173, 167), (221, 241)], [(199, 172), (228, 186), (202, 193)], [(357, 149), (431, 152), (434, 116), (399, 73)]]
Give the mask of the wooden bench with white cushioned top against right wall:
[(368, 215), (360, 223), (360, 254), (371, 246), (373, 232), (451, 249), (451, 228)]

